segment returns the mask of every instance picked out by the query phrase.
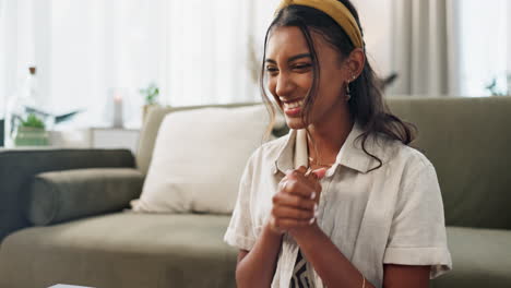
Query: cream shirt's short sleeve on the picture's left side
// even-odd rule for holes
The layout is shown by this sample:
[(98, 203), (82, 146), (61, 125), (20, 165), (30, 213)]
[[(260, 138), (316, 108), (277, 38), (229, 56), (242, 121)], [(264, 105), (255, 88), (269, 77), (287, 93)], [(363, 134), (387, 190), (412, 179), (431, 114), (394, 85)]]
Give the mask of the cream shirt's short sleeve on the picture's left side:
[(251, 250), (255, 244), (255, 235), (253, 232), (252, 213), (250, 207), (251, 182), (253, 177), (253, 158), (252, 155), (241, 176), (238, 189), (238, 199), (230, 218), (229, 226), (224, 236), (224, 241), (227, 244), (237, 247), (242, 250)]

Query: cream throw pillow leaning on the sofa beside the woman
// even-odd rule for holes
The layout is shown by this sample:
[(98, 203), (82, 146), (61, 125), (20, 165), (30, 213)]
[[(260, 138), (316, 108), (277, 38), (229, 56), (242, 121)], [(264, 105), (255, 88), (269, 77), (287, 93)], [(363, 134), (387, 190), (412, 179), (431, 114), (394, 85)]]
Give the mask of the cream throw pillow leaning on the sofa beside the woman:
[(263, 105), (167, 115), (133, 211), (231, 213), (239, 180), (262, 144), (268, 119)]

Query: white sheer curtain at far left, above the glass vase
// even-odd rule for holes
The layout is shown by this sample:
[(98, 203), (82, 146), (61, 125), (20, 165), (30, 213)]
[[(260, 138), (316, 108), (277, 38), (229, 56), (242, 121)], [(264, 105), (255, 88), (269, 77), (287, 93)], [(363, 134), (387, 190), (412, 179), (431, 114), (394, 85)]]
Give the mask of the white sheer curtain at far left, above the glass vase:
[(5, 0), (0, 46), (2, 94), (37, 67), (40, 108), (83, 109), (84, 125), (107, 123), (111, 91), (122, 91), (127, 123), (140, 122), (138, 89), (158, 81), (158, 22), (164, 1)]

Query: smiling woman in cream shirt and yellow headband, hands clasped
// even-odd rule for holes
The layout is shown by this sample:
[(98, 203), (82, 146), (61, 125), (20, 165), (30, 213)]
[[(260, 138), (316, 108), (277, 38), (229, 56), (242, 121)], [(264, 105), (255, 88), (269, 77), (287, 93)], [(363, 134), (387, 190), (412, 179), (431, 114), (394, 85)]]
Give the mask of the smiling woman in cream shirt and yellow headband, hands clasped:
[(261, 84), (290, 132), (242, 176), (238, 287), (426, 288), (451, 268), (435, 168), (388, 111), (348, 0), (284, 1)]

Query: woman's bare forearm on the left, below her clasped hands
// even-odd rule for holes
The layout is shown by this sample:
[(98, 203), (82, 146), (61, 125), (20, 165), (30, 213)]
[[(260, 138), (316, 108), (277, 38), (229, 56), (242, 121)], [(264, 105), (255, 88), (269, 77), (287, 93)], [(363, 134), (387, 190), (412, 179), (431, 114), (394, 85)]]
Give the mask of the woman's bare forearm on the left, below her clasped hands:
[(264, 226), (252, 250), (240, 250), (236, 266), (236, 284), (240, 288), (270, 287), (275, 274), (282, 233)]

